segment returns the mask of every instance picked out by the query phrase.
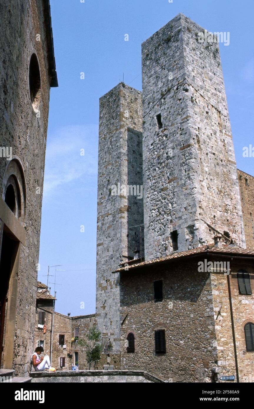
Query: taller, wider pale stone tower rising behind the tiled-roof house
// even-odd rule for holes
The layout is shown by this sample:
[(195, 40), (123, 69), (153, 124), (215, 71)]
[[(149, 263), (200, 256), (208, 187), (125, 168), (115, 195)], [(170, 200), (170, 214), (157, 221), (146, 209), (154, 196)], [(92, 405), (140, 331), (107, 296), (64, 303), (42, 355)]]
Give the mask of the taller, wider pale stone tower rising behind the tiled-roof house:
[(200, 33), (179, 14), (142, 44), (146, 260), (216, 232), (245, 247), (218, 43)]

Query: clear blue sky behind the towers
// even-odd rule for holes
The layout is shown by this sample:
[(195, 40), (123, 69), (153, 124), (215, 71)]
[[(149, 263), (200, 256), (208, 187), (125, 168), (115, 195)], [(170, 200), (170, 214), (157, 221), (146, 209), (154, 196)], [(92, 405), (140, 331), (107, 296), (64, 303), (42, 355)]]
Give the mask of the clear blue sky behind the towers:
[[(142, 89), (141, 43), (178, 13), (208, 31), (229, 31), (230, 44), (220, 44), (220, 54), (236, 162), (253, 174), (254, 158), (242, 154), (243, 146), (254, 146), (254, 2), (50, 3), (59, 88), (50, 95), (38, 279), (47, 282), (47, 266), (60, 264), (57, 269), (65, 271), (56, 272), (56, 310), (83, 315), (95, 312), (99, 97), (122, 81), (123, 73), (125, 83)], [(49, 285), (53, 294), (54, 284)]]

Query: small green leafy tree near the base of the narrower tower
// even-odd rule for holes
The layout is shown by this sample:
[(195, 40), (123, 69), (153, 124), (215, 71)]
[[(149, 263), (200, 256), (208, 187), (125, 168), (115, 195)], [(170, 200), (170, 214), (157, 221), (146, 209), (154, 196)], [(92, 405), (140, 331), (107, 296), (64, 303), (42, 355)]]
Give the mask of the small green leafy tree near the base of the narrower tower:
[(88, 332), (88, 341), (79, 340), (78, 344), (85, 347), (86, 360), (91, 369), (92, 362), (94, 363), (94, 369), (96, 363), (101, 359), (101, 333), (97, 330), (96, 325), (94, 324)]

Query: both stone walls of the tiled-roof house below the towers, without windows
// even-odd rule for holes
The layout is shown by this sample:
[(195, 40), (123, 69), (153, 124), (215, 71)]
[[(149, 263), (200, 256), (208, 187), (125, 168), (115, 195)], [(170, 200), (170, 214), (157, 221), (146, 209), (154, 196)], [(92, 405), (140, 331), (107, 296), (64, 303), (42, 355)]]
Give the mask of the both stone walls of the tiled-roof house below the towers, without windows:
[[(229, 261), (231, 274), (198, 272), (204, 258)], [(254, 322), (254, 295), (239, 294), (236, 274), (241, 269), (250, 274), (254, 292), (253, 261), (240, 256), (205, 256), (121, 272), (121, 368), (142, 369), (170, 382), (237, 379), (229, 277), (239, 379), (253, 382), (254, 354), (246, 353), (244, 325)], [(160, 302), (154, 301), (156, 280), (163, 281)], [(165, 330), (166, 354), (155, 353), (157, 329)], [(129, 332), (135, 336), (135, 353), (126, 349)]]

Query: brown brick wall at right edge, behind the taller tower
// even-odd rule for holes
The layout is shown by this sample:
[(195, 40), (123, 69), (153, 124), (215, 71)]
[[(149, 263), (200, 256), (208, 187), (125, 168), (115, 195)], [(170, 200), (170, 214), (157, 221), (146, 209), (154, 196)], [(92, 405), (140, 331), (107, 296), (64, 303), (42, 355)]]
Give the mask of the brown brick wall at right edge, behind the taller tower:
[(246, 247), (254, 249), (254, 177), (238, 170)]

